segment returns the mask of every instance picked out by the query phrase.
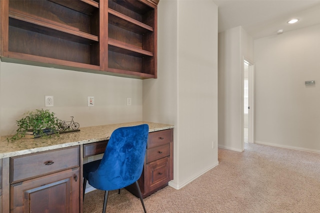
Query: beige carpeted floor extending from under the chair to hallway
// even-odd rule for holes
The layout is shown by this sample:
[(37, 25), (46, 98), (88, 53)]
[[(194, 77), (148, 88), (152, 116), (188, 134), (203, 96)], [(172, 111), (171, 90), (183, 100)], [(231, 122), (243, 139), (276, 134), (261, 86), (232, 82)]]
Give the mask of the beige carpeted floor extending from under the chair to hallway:
[[(166, 187), (144, 199), (148, 213), (318, 213), (320, 154), (259, 144), (218, 150), (219, 165), (180, 190)], [(83, 213), (101, 213), (104, 193), (87, 193)], [(106, 212), (143, 213), (122, 189), (109, 193)]]

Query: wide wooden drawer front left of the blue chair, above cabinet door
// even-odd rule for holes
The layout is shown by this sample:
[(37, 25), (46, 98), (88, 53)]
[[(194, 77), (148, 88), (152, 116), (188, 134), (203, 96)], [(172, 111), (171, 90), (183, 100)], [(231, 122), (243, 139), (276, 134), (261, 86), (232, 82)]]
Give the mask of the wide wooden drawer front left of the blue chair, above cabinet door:
[(10, 182), (54, 173), (79, 166), (79, 146), (12, 157)]

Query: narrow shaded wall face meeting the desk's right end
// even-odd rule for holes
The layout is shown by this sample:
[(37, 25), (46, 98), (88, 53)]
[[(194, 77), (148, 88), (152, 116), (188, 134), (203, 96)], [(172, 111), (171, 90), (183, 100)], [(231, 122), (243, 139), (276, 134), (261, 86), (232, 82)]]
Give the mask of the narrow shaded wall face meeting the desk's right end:
[[(174, 125), (173, 178), (178, 178), (177, 124), (177, 1), (160, 0), (157, 6), (157, 79), (142, 80), (142, 119)], [(169, 184), (170, 184), (169, 183)], [(177, 187), (174, 187), (177, 188)]]

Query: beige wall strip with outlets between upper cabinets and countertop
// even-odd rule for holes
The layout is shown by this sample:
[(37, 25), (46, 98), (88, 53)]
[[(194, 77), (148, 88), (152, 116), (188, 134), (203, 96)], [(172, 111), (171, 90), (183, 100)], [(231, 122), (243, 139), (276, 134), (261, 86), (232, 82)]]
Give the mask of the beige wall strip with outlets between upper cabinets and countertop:
[[(7, 62), (0, 69), (1, 136), (15, 132), (23, 113), (42, 108), (61, 120), (74, 116), (80, 127), (142, 120), (142, 80)], [(53, 107), (44, 107), (44, 95), (54, 96)]]

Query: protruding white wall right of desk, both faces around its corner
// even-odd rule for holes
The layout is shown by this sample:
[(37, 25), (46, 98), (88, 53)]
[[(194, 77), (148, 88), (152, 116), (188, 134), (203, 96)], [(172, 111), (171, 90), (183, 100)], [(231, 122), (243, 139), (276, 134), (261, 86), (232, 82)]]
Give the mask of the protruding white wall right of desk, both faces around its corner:
[(143, 80), (143, 119), (174, 125), (170, 186), (179, 189), (218, 163), (217, 6), (160, 0), (158, 17), (159, 74)]

